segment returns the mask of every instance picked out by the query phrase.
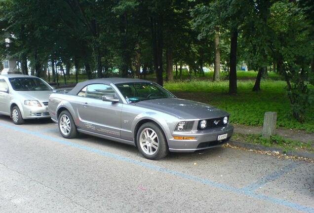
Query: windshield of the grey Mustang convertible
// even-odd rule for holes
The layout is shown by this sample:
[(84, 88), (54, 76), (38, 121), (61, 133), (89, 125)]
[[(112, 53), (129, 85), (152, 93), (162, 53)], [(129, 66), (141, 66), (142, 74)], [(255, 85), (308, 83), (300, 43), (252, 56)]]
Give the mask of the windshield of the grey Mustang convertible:
[(128, 103), (152, 99), (175, 98), (167, 90), (151, 82), (120, 83), (116, 84), (116, 86)]

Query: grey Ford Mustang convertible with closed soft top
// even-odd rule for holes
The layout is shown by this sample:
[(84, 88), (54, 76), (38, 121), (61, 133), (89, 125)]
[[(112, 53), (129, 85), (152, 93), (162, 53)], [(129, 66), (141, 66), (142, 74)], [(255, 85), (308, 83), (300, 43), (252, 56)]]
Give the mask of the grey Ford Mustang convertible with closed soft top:
[(133, 144), (149, 159), (219, 146), (234, 130), (227, 112), (130, 78), (87, 80), (67, 94), (53, 93), (48, 111), (64, 138), (80, 132)]

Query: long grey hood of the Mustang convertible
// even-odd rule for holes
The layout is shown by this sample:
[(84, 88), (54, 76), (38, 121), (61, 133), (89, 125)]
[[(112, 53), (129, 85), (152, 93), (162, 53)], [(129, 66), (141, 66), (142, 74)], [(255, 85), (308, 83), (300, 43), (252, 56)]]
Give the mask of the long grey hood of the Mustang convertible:
[(180, 119), (211, 119), (229, 115), (213, 106), (184, 99), (153, 99), (135, 105), (176, 115)]

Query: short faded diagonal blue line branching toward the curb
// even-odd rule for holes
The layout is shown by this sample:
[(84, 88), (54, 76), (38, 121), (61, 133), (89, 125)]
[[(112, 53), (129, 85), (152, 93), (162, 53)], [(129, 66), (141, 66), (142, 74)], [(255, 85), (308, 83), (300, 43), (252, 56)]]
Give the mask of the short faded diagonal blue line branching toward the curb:
[(301, 165), (300, 163), (291, 163), (288, 166), (285, 166), (283, 169), (281, 169), (279, 171), (275, 171), (274, 173), (267, 175), (267, 176), (261, 178), (260, 180), (243, 187), (242, 190), (254, 191), (254, 190), (266, 185), (267, 183), (280, 178), (284, 174), (288, 173), (289, 171), (291, 171), (292, 169), (294, 169), (300, 165)]

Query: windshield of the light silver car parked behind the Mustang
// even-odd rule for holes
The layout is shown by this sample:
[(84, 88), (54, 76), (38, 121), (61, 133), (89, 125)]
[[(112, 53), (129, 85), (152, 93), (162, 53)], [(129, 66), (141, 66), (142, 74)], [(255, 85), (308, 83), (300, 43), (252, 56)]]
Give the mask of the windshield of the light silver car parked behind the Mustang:
[(11, 86), (15, 91), (45, 91), (52, 90), (47, 83), (40, 78), (14, 77), (9, 78)]

